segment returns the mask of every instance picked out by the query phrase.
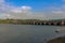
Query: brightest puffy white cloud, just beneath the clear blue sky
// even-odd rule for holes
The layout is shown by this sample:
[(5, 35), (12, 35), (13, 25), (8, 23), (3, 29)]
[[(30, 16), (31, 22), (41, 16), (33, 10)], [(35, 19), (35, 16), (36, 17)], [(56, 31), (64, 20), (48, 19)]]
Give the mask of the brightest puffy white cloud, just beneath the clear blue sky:
[(11, 9), (11, 12), (13, 12), (13, 13), (28, 13), (28, 12), (30, 12), (30, 10), (31, 10), (30, 6), (20, 6), (20, 8)]

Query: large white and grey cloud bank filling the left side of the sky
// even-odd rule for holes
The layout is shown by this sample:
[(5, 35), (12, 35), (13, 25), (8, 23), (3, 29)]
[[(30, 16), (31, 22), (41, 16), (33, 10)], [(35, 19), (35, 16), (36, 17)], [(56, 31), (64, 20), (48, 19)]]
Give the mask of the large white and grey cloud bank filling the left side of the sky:
[(0, 18), (20, 18), (20, 19), (42, 19), (46, 18), (44, 14), (36, 14), (31, 12), (31, 6), (14, 6), (6, 3), (4, 0), (0, 0)]

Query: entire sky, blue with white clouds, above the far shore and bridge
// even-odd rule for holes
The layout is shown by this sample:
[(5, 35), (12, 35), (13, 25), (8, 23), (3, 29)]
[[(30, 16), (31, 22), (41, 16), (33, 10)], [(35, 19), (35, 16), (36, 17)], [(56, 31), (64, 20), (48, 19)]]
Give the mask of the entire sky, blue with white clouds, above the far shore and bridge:
[(65, 0), (0, 0), (0, 18), (65, 18)]

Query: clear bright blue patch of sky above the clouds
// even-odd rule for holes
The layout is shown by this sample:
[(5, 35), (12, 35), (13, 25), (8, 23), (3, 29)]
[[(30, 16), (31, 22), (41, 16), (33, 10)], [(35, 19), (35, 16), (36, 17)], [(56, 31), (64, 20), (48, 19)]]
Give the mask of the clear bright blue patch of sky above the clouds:
[(44, 11), (50, 6), (61, 6), (64, 4), (61, 0), (6, 0), (8, 3), (15, 6), (28, 5), (32, 11)]

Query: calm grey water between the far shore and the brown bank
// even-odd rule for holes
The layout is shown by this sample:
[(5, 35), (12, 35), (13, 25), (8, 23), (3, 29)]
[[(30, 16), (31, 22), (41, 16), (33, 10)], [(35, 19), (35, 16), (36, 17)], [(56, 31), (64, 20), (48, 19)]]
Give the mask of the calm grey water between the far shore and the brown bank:
[(0, 25), (0, 43), (46, 43), (64, 35), (54, 32), (56, 28), (61, 26)]

